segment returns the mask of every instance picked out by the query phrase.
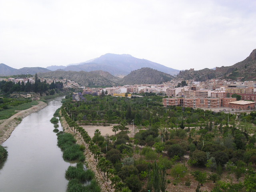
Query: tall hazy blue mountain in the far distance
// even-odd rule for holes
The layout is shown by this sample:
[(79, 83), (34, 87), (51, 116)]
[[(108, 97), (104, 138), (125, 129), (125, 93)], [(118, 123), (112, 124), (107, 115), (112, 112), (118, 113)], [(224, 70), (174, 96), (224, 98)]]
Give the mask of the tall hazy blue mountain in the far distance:
[(114, 76), (124, 76), (133, 70), (149, 67), (155, 70), (168, 73), (171, 75), (178, 74), (180, 70), (166, 67), (164, 65), (146, 60), (135, 58), (129, 54), (104, 54), (98, 58), (81, 62), (77, 64), (69, 64), (68, 66), (49, 66), (49, 70), (62, 69), (64, 71), (94, 71), (103, 70)]

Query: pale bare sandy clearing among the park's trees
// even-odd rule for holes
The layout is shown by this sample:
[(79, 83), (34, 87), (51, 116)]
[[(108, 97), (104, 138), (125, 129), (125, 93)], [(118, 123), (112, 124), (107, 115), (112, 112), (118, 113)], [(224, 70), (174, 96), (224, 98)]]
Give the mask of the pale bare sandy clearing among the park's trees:
[[(109, 134), (109, 136), (114, 135), (115, 132), (112, 131), (112, 128), (113, 128), (114, 125), (118, 125), (118, 124), (112, 124), (111, 126), (82, 125), (82, 127), (84, 128), (84, 130), (86, 130), (88, 132), (89, 136), (92, 138), (94, 136), (94, 131), (96, 129), (100, 130), (102, 136), (105, 136), (106, 134)], [(129, 128), (128, 136), (133, 137), (133, 134), (132, 134), (132, 128), (133, 127), (132, 127), (132, 125), (127, 125), (126, 127)], [(136, 128), (136, 126), (134, 126), (134, 128)], [(118, 133), (118, 132), (120, 132), (120, 130), (117, 131), (116, 133)]]

